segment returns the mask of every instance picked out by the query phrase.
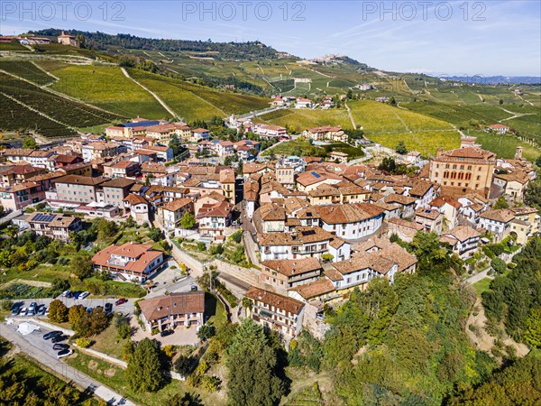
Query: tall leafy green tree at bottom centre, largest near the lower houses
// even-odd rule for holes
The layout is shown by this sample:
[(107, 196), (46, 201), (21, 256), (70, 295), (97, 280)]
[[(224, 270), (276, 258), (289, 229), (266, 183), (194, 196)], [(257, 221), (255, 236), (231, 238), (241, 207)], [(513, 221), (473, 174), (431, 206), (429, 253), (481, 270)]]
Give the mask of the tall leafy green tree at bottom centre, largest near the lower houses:
[(231, 404), (271, 406), (280, 402), (285, 383), (277, 374), (277, 354), (251, 318), (245, 318), (237, 328), (227, 350), (226, 365)]

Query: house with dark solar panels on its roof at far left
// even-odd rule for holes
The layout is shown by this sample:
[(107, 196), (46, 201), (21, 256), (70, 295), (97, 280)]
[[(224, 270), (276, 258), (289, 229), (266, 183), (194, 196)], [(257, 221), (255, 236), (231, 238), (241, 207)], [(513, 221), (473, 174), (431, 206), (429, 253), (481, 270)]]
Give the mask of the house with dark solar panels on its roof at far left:
[(26, 223), (37, 235), (47, 235), (62, 242), (68, 242), (71, 232), (83, 228), (80, 218), (54, 213), (34, 212), (26, 218)]

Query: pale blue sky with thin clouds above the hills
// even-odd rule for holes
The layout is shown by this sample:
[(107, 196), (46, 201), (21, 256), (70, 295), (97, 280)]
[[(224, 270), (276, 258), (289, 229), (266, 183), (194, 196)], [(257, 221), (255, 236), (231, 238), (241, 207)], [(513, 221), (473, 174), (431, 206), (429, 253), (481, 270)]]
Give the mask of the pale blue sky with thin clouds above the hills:
[(0, 0), (0, 33), (43, 28), (215, 42), (261, 41), (397, 72), (541, 76), (541, 2)]

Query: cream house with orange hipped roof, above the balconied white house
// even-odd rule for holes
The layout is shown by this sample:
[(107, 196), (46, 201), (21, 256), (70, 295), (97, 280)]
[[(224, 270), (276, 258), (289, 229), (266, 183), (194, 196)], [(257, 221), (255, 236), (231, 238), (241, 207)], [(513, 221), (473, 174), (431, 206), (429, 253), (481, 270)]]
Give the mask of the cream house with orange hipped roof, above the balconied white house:
[(316, 281), (322, 272), (321, 263), (316, 258), (261, 263), (261, 281), (279, 291)]

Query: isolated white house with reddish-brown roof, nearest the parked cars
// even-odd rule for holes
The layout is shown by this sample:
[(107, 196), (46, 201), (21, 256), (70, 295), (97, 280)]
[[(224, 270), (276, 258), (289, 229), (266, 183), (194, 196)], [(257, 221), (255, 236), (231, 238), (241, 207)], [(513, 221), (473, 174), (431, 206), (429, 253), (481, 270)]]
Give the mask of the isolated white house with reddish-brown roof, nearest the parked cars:
[(142, 323), (151, 332), (177, 326), (199, 328), (205, 324), (205, 292), (172, 292), (168, 295), (139, 301)]

